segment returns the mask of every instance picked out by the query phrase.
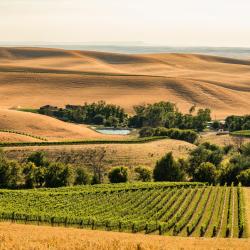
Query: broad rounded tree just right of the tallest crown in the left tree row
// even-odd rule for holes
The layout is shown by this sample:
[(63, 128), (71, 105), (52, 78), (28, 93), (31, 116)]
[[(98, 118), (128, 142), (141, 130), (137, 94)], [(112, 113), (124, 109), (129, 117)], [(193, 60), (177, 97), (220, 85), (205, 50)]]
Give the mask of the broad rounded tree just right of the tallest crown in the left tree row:
[(73, 184), (73, 171), (70, 165), (53, 162), (45, 173), (46, 187), (63, 187)]

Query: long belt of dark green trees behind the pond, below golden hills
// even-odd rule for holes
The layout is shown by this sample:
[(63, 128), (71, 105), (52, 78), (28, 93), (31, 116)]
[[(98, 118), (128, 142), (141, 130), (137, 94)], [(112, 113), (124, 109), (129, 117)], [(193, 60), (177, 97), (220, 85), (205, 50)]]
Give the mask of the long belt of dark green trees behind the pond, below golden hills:
[(129, 117), (120, 106), (99, 101), (85, 103), (83, 106), (66, 105), (65, 108), (46, 105), (39, 109), (39, 113), (54, 116), (63, 121), (108, 127), (165, 127), (202, 131), (207, 122), (211, 121), (211, 111), (199, 109), (196, 112), (195, 109), (196, 107), (192, 106), (188, 114), (183, 114), (174, 103), (162, 101), (135, 106), (135, 115)]

